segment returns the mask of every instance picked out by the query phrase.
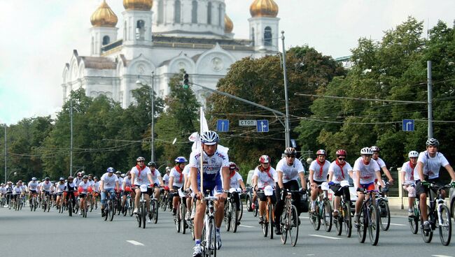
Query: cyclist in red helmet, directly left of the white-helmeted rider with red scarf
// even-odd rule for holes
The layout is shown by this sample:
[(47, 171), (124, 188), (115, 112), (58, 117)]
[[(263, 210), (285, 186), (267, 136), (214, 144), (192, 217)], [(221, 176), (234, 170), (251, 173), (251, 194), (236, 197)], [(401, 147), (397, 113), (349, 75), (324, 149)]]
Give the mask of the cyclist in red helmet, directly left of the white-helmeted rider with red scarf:
[(346, 196), (345, 200), (347, 203), (350, 203), (351, 201), (351, 194), (349, 193), (349, 189), (344, 188), (342, 191), (339, 191), (341, 188), (340, 184), (342, 181), (348, 182), (348, 175), (352, 177), (353, 171), (351, 165), (346, 161), (346, 150), (339, 149), (335, 154), (337, 156), (337, 159), (335, 159), (335, 161), (332, 161), (332, 163), (330, 163), (330, 167), (328, 168), (328, 184), (330, 185), (330, 189), (335, 192), (335, 200), (333, 202), (333, 216), (337, 217), (341, 196)]

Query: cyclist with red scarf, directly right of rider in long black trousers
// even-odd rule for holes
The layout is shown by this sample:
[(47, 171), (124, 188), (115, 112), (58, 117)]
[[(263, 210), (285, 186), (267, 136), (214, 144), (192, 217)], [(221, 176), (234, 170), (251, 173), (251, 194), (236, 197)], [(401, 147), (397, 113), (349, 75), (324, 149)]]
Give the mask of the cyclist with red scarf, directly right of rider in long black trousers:
[(316, 152), (316, 160), (309, 165), (309, 183), (311, 184), (311, 208), (310, 212), (314, 212), (316, 206), (316, 198), (319, 193), (322, 193), (321, 184), (327, 182), (328, 168), (330, 162), (325, 160), (327, 154), (325, 150), (319, 149)]

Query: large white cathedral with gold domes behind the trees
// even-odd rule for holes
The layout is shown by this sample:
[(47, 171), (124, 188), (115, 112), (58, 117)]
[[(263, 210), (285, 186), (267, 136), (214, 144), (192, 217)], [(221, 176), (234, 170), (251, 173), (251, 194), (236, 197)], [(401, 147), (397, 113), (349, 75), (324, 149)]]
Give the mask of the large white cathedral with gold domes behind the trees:
[[(169, 80), (181, 69), (190, 81), (216, 89), (231, 64), (244, 57), (278, 52), (278, 6), (273, 0), (251, 3), (249, 39), (236, 39), (224, 0), (123, 0), (123, 32), (104, 0), (90, 22), (90, 56), (73, 50), (63, 71), (64, 101), (82, 87), (87, 96), (106, 95), (123, 108), (134, 103), (137, 80), (153, 85), (158, 97), (169, 94)], [(208, 91), (193, 87), (204, 102)]]

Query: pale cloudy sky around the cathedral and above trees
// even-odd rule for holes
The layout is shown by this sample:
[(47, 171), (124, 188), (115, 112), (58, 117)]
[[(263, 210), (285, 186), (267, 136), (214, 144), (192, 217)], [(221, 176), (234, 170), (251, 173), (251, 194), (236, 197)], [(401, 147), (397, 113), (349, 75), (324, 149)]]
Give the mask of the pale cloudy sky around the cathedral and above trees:
[[(454, 0), (274, 0), (285, 47), (309, 45), (334, 58), (358, 38), (380, 41), (409, 15), (431, 28), (455, 19)], [(253, 0), (225, 0), (235, 38), (248, 38)], [(90, 54), (90, 15), (102, 0), (0, 0), (0, 124), (51, 115), (62, 106), (62, 72), (72, 51)], [(119, 18), (122, 0), (107, 0)], [(120, 33), (119, 32), (119, 33)], [(121, 36), (119, 34), (119, 36)], [(281, 46), (280, 46), (281, 49)]]

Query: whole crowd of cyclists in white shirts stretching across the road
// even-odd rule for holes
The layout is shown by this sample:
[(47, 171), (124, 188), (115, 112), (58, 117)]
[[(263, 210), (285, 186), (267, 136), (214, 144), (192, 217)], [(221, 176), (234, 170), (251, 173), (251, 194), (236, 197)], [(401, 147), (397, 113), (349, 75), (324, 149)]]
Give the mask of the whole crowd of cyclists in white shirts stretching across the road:
[[(106, 208), (106, 200), (111, 196), (118, 201), (118, 210), (126, 214), (127, 209), (132, 209), (132, 214), (138, 215), (138, 207), (141, 199), (146, 200), (147, 223), (151, 223), (151, 198), (158, 199), (160, 205), (172, 207), (172, 215), (178, 216), (179, 205), (186, 207), (185, 220), (193, 224), (193, 239), (195, 247), (193, 256), (202, 256), (207, 249), (211, 250), (206, 241), (207, 228), (204, 215), (207, 214), (206, 207), (208, 201), (204, 200), (208, 196), (215, 196), (214, 199), (214, 224), (215, 235), (213, 250), (221, 249), (222, 240), (220, 228), (225, 217), (226, 200), (233, 198), (237, 212), (241, 211), (240, 194), (246, 192), (246, 185), (239, 174), (238, 166), (231, 162), (228, 152), (224, 147), (218, 147), (220, 138), (214, 131), (207, 131), (200, 136), (200, 148), (191, 152), (189, 160), (183, 156), (175, 159), (173, 168), (167, 167), (165, 175), (161, 175), (153, 161), (146, 165), (144, 157), (138, 157), (136, 165), (130, 171), (123, 173), (114, 168), (107, 168), (101, 179), (92, 174), (85, 175), (85, 172), (78, 172), (76, 177), (60, 177), (57, 182), (50, 182), (49, 177), (45, 177), (41, 182), (32, 177), (27, 184), (21, 180), (13, 184), (8, 182), (1, 184), (0, 196), (1, 205), (8, 207), (24, 206), (29, 203), (34, 205), (34, 199), (38, 206), (43, 206), (46, 199), (47, 203), (54, 206), (57, 210), (75, 208), (86, 210), (87, 205), (97, 208), (98, 197), (101, 197), (102, 216)], [(414, 202), (419, 200), (419, 210), (423, 231), (432, 228), (428, 223), (428, 212), (426, 199), (430, 190), (430, 184), (444, 185), (440, 179), (440, 168), (443, 167), (449, 173), (451, 182), (449, 186), (455, 187), (455, 173), (449, 165), (447, 159), (440, 152), (437, 152), (439, 142), (430, 138), (426, 141), (426, 150), (423, 152), (411, 151), (408, 154), (409, 161), (403, 163), (400, 170), (402, 188), (408, 193), (408, 214), (415, 214)], [(302, 207), (301, 197), (309, 194), (309, 212), (318, 212), (318, 197), (330, 187), (334, 192), (333, 208), (330, 215), (337, 219), (340, 210), (340, 198), (344, 196), (350, 202), (349, 189), (343, 186), (349, 183), (349, 177), (353, 181), (353, 187), (358, 191), (357, 200), (353, 208), (353, 228), (361, 226), (363, 220), (362, 207), (367, 191), (385, 193), (389, 184), (394, 180), (391, 172), (386, 168), (386, 163), (379, 158), (379, 147), (363, 147), (360, 149), (359, 157), (353, 163), (346, 162), (348, 153), (344, 149), (338, 149), (336, 159), (332, 162), (327, 160), (327, 153), (320, 149), (316, 152), (316, 159), (309, 165), (309, 175), (305, 176), (302, 162), (296, 158), (297, 152), (294, 148), (288, 147), (283, 151), (283, 158), (279, 160), (276, 167), (271, 165), (271, 159), (267, 155), (262, 155), (258, 159), (258, 166), (253, 172), (251, 188), (253, 191), (253, 201), (251, 208), (255, 209), (258, 204), (258, 223), (265, 223), (265, 213), (267, 200), (274, 205), (273, 222), (275, 235), (281, 235), (284, 231), (284, 223), (281, 216), (285, 209), (286, 196), (288, 191), (292, 198), (292, 204), (297, 207), (297, 216), (300, 215)], [(386, 177), (386, 181), (382, 179)], [(324, 186), (325, 185), (325, 186)], [(147, 190), (141, 190), (141, 186), (146, 186)], [(267, 193), (272, 191), (273, 193)], [(444, 195), (447, 192), (442, 191)], [(144, 196), (141, 198), (141, 195)], [(181, 197), (186, 196), (186, 200)], [(134, 199), (130, 206), (127, 199)], [(169, 199), (166, 202), (165, 199)], [(69, 203), (71, 202), (71, 205)], [(249, 206), (248, 206), (249, 207)], [(44, 206), (43, 206), (44, 208)], [(70, 212), (71, 213), (71, 212)], [(73, 210), (76, 213), (76, 210)], [(83, 215), (83, 212), (80, 212)], [(351, 214), (350, 214), (351, 215)], [(144, 221), (145, 222), (145, 221)], [(238, 222), (238, 221), (236, 221)], [(449, 221), (450, 222), (450, 221)], [(239, 223), (239, 222), (238, 222)], [(295, 226), (300, 225), (297, 219)], [(205, 236), (204, 236), (205, 235)]]

